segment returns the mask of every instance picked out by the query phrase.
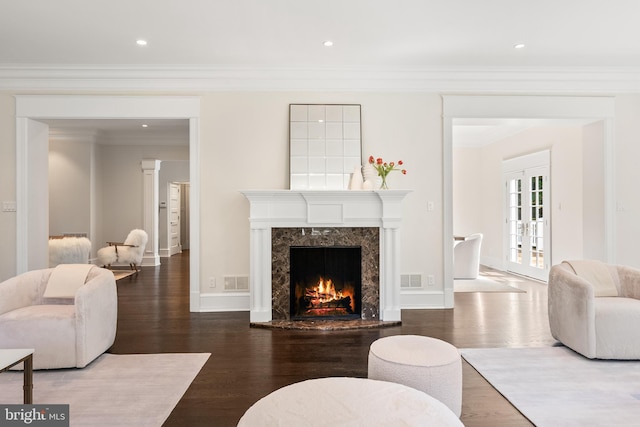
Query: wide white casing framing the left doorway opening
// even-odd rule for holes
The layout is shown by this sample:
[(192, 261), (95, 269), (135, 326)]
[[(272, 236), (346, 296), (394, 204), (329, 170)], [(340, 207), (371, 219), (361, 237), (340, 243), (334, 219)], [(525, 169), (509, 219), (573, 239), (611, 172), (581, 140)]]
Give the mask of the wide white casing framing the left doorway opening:
[[(190, 218), (190, 307), (200, 311), (199, 254), (199, 97), (171, 96), (16, 96), (16, 272), (44, 268), (48, 265), (48, 126), (45, 120), (101, 119), (185, 119), (189, 127), (189, 161), (191, 183)], [(42, 168), (34, 168), (35, 162)], [(126, 187), (125, 187), (126, 188)], [(153, 223), (158, 205), (145, 212), (144, 225)], [(157, 223), (156, 223), (157, 224)], [(157, 225), (156, 225), (157, 226)], [(150, 226), (148, 228), (155, 228)], [(157, 239), (157, 237), (156, 237)], [(157, 240), (154, 242), (157, 244)]]

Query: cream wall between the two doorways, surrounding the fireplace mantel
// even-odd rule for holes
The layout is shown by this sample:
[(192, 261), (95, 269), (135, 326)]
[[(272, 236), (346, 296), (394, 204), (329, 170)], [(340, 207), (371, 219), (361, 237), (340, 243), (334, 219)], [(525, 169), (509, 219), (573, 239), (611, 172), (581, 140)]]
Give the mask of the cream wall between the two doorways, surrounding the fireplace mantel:
[[(435, 94), (216, 93), (202, 98), (201, 276), (249, 273), (247, 189), (289, 188), (290, 103), (362, 105), (363, 157), (403, 160), (391, 188), (414, 191), (404, 203), (402, 271), (433, 274), (442, 288), (442, 123)], [(427, 212), (427, 201), (435, 211)]]

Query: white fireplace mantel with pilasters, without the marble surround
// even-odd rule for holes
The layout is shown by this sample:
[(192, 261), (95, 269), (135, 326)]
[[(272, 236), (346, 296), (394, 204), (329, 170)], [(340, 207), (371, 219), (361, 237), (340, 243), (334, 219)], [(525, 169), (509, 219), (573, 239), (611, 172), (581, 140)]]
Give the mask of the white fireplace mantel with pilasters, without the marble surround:
[(380, 227), (380, 320), (400, 319), (402, 200), (410, 190), (247, 190), (250, 241), (250, 319), (272, 320), (271, 229)]

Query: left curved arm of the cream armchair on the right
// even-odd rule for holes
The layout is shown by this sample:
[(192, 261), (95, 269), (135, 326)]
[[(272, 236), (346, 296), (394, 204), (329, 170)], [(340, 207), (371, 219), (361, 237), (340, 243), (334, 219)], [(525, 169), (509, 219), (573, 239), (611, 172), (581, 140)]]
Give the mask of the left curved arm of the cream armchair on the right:
[(593, 285), (559, 264), (551, 267), (548, 286), (551, 335), (586, 357), (595, 357)]

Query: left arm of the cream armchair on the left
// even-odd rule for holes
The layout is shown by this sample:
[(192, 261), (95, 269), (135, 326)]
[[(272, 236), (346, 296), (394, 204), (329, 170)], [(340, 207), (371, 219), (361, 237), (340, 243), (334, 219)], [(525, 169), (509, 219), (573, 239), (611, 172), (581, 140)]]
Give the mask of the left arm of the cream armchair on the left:
[(0, 283), (0, 314), (40, 304), (51, 269), (29, 271)]

